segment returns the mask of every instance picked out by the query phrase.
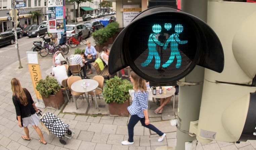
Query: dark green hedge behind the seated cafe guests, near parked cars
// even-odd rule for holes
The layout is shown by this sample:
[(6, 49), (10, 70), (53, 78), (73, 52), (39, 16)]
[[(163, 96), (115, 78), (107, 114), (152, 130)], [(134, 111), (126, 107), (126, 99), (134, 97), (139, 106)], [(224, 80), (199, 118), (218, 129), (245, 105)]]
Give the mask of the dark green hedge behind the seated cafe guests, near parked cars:
[(119, 23), (118, 22), (112, 22), (109, 23), (105, 28), (101, 28), (100, 30), (97, 30), (92, 33), (94, 43), (96, 46), (103, 45), (108, 38), (112, 37), (118, 32)]

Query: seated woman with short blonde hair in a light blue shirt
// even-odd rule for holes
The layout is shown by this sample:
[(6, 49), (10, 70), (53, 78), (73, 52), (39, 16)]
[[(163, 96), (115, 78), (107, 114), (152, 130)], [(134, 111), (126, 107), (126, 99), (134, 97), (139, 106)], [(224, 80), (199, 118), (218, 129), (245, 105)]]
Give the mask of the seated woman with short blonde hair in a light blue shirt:
[(89, 68), (89, 72), (87, 74), (92, 74), (91, 62), (94, 62), (96, 59), (97, 51), (96, 49), (91, 46), (91, 42), (86, 41), (87, 47), (85, 48), (85, 56), (87, 57), (85, 60), (87, 61), (87, 65)]

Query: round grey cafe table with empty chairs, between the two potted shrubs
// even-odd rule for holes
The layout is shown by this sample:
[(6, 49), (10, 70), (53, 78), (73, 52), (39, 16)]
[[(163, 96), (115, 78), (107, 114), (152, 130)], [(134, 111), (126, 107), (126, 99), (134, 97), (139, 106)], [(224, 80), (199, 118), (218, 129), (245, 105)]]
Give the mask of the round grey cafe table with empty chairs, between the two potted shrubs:
[[(89, 84), (89, 86), (87, 86), (86, 88), (84, 88), (83, 86), (83, 83), (84, 82), (87, 82), (87, 84)], [(75, 91), (75, 92), (79, 92), (79, 93), (86, 93), (86, 92), (90, 92), (90, 91), (93, 91), (94, 93), (94, 97), (95, 97), (95, 108), (98, 108), (99, 110), (99, 107), (98, 107), (98, 102), (97, 102), (97, 97), (96, 97), (96, 93), (95, 93), (95, 89), (99, 86), (99, 83), (95, 80), (92, 80), (92, 79), (83, 79), (83, 80), (78, 80), (76, 82), (74, 82), (72, 85), (71, 85), (71, 90), (72, 91)], [(86, 97), (86, 96), (85, 96)], [(87, 99), (87, 97), (86, 97)], [(75, 101), (75, 105), (76, 105), (76, 108), (77, 108), (77, 103), (76, 103), (76, 100)], [(89, 102), (89, 100), (88, 100)], [(89, 103), (90, 104), (90, 103)]]

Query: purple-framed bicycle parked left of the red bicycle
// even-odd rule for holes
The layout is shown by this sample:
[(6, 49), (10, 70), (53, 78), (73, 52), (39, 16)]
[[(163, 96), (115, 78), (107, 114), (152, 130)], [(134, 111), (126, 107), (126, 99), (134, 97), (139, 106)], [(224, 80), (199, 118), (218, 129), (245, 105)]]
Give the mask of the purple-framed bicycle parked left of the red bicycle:
[(53, 55), (56, 51), (63, 51), (63, 49), (61, 47), (59, 47), (58, 45), (54, 46), (53, 43), (49, 44), (51, 42), (50, 40), (51, 38), (46, 38), (44, 40), (44, 49), (40, 50), (40, 55), (42, 57), (47, 56), (48, 54)]

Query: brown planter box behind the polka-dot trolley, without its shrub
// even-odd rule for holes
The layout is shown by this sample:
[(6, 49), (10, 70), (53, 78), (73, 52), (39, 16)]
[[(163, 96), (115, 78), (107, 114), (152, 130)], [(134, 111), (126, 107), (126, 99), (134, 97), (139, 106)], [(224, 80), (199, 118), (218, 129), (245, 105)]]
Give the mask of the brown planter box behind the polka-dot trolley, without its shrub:
[(60, 109), (60, 107), (64, 104), (64, 97), (59, 90), (56, 95), (50, 95), (49, 97), (42, 96), (45, 107), (52, 107), (55, 109)]

